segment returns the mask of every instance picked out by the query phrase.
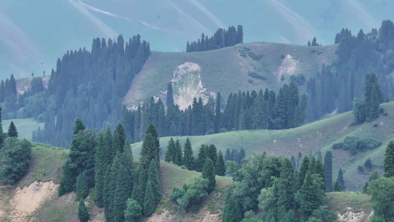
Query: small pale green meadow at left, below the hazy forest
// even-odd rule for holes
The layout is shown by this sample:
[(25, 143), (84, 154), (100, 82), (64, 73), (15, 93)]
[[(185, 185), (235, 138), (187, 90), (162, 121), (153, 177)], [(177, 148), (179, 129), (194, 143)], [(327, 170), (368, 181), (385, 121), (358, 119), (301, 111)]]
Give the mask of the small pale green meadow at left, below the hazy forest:
[(15, 126), (17, 127), (18, 130), (18, 137), (19, 138), (25, 138), (28, 140), (32, 140), (32, 134), (33, 130), (37, 130), (38, 127), (41, 127), (41, 129), (44, 128), (44, 123), (43, 122), (35, 122), (33, 118), (29, 119), (9, 119), (9, 120), (3, 120), (3, 131), (7, 132), (9, 124), (11, 121), (14, 122)]

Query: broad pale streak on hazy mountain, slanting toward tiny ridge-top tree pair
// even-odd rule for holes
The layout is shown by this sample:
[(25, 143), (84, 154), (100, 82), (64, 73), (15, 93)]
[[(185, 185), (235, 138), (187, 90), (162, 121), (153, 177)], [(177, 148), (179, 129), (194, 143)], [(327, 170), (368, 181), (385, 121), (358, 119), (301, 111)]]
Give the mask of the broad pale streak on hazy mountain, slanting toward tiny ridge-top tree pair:
[(314, 30), (312, 26), (307, 23), (305, 19), (276, 0), (271, 0), (270, 2), (273, 4), (273, 6), (275, 6), (276, 9), (278, 9), (282, 17), (292, 24), (292, 26), (297, 30), (299, 41), (305, 41), (305, 39), (309, 39), (311, 36), (314, 36)]

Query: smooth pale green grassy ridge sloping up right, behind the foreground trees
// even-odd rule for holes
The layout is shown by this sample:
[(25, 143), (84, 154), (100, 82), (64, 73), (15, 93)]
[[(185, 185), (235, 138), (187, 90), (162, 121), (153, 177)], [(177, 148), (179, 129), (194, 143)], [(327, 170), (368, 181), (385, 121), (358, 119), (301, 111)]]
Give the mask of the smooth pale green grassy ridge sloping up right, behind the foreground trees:
[[(353, 120), (351, 112), (343, 113), (313, 122), (298, 128), (288, 130), (256, 130), (256, 131), (238, 131), (227, 132), (214, 135), (192, 136), (190, 137), (193, 150), (197, 154), (197, 150), (201, 143), (213, 143), (217, 149), (223, 153), (227, 148), (245, 149), (246, 155), (253, 152), (260, 153), (263, 151), (269, 154), (284, 155), (290, 157), (297, 156), (298, 152), (303, 155), (309, 154), (310, 151), (333, 152), (333, 177), (336, 179), (336, 173), (342, 167), (345, 173), (346, 187), (349, 190), (361, 190), (365, 180), (368, 178), (368, 172), (360, 174), (357, 171), (358, 165), (363, 165), (367, 158), (372, 159), (372, 163), (376, 164), (375, 169), (381, 168), (383, 154), (385, 152), (388, 141), (394, 139), (394, 102), (382, 104), (388, 116), (380, 115), (373, 122), (348, 127)], [(378, 127), (373, 127), (375, 123)], [(381, 147), (369, 152), (359, 153), (350, 156), (348, 151), (332, 150), (333, 143), (344, 139), (346, 136), (372, 137), (383, 142)], [(186, 137), (177, 137), (183, 144)], [(160, 138), (162, 147), (161, 155), (164, 156), (165, 147), (170, 137)], [(134, 154), (138, 154), (142, 143), (132, 144)]]

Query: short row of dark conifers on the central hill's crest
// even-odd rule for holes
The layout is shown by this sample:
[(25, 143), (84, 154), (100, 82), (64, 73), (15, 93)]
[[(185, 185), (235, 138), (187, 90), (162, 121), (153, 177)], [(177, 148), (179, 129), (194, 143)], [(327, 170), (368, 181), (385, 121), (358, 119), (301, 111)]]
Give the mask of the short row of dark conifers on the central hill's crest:
[(201, 52), (221, 49), (224, 47), (234, 46), (238, 43), (243, 43), (243, 27), (238, 25), (237, 29), (234, 26), (223, 29), (219, 28), (213, 36), (208, 38), (204, 33), (201, 34), (201, 40), (189, 41), (186, 43), (186, 52)]

